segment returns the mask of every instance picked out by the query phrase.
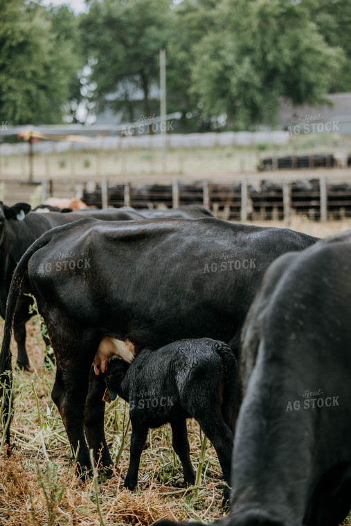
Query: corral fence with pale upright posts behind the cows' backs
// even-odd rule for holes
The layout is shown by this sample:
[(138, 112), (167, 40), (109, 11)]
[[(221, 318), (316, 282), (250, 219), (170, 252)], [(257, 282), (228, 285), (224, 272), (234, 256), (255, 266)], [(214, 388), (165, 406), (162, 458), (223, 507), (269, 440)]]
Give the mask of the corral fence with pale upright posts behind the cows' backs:
[(325, 176), (309, 181), (261, 181), (258, 187), (248, 179), (240, 183), (183, 183), (169, 185), (109, 185), (84, 188), (82, 199), (89, 206), (132, 206), (133, 208), (177, 208), (202, 204), (216, 217), (240, 221), (269, 219), (289, 222), (291, 215), (327, 221), (351, 217), (351, 184), (327, 183)]

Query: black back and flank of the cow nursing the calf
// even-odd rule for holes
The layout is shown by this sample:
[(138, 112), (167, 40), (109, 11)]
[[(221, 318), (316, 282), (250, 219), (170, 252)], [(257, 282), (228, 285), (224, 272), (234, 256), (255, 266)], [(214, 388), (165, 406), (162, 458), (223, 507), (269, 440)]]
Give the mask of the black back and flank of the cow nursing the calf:
[[(202, 336), (230, 341), (269, 264), (315, 240), (219, 219), (80, 221), (55, 230), (28, 269), (48, 309), (57, 300), (68, 319), (93, 320), (105, 336), (139, 347)], [(62, 253), (68, 257), (57, 262)]]

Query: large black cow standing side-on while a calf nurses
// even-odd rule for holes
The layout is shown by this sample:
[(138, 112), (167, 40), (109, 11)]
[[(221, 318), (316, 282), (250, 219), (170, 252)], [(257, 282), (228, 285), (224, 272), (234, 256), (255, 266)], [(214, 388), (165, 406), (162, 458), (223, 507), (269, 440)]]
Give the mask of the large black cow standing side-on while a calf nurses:
[[(102, 448), (104, 383), (91, 365), (143, 347), (208, 336), (236, 350), (264, 271), (316, 237), (215, 218), (121, 223), (84, 219), (37, 239), (21, 258), (8, 296), (0, 374), (10, 363), (12, 316), (28, 269), (57, 361), (52, 397), (82, 469)], [(57, 261), (57, 254), (68, 254)], [(89, 371), (90, 381), (89, 379)], [(84, 434), (85, 431), (85, 434)], [(8, 435), (9, 437), (9, 435)], [(89, 444), (89, 448), (87, 446)]]

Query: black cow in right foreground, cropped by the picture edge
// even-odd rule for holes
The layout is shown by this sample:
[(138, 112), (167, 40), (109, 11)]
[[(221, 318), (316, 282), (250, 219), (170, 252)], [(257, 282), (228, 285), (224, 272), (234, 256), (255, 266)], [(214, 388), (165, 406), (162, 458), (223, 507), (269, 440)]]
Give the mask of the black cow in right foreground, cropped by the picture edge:
[[(351, 230), (267, 272), (240, 364), (223, 526), (337, 526), (351, 508)], [(168, 525), (168, 521), (161, 521)]]

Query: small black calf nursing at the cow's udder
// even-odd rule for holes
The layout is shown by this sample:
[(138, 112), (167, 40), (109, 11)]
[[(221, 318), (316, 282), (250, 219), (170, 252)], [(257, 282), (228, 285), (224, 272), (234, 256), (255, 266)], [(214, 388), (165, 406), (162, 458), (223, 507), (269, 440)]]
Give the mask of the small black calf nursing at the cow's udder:
[[(141, 453), (149, 428), (170, 422), (172, 444), (183, 466), (184, 480), (194, 484), (186, 419), (193, 417), (212, 442), (224, 478), (231, 484), (235, 425), (236, 360), (225, 343), (199, 338), (180, 340), (158, 350), (143, 349), (129, 365), (112, 359), (107, 367), (109, 398), (129, 403), (132, 422), (129, 469), (125, 487), (138, 482)], [(224, 498), (228, 500), (228, 488)]]

